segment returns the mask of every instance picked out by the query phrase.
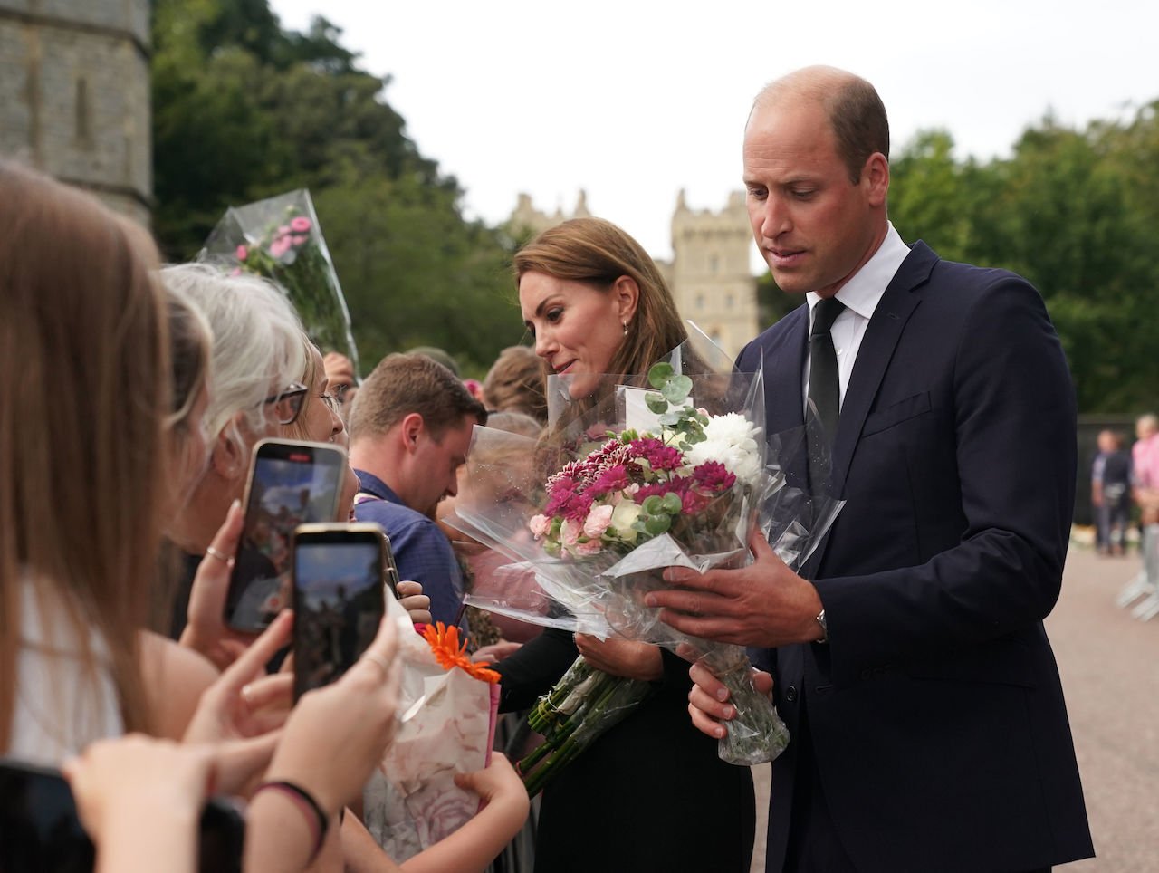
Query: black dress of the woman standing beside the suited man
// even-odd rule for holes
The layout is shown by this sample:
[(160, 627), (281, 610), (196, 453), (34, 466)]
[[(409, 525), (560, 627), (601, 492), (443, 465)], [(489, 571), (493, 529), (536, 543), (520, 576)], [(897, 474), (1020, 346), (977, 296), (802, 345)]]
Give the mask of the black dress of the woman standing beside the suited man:
[[(496, 665), (501, 708), (529, 708), (578, 655), (570, 633), (546, 630)], [(748, 873), (752, 776), (692, 726), (688, 664), (663, 657), (653, 696), (544, 790), (537, 873)]]

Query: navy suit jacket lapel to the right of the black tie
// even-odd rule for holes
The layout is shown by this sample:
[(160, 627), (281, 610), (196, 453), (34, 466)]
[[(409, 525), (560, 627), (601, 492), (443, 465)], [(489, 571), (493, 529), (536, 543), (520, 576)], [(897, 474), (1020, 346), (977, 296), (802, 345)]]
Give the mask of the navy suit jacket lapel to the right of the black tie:
[(866, 416), (877, 397), (885, 368), (894, 356), (894, 349), (902, 336), (905, 322), (921, 301), (917, 289), (930, 278), (930, 271), (938, 261), (928, 246), (920, 240), (913, 243), (912, 250), (885, 288), (873, 318), (866, 327), (858, 358), (853, 364), (853, 373), (845, 388), (845, 401), (841, 403), (841, 416), (837, 424), (837, 441), (833, 445), (833, 493), (845, 493), (845, 478), (853, 461), (853, 452), (865, 425)]

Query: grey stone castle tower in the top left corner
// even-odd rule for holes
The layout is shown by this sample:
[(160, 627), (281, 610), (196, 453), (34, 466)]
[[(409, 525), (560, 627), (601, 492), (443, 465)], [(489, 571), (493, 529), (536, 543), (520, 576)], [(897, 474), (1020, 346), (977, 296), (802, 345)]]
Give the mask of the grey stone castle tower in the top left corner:
[(0, 155), (148, 224), (150, 0), (0, 0)]

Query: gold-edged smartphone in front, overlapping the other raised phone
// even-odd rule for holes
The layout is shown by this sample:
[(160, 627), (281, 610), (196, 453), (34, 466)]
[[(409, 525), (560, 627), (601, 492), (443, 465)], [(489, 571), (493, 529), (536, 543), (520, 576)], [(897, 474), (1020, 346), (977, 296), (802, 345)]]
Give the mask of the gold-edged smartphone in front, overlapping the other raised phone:
[(304, 524), (294, 531), (296, 700), (336, 681), (373, 642), (393, 566), (389, 540), (377, 524)]

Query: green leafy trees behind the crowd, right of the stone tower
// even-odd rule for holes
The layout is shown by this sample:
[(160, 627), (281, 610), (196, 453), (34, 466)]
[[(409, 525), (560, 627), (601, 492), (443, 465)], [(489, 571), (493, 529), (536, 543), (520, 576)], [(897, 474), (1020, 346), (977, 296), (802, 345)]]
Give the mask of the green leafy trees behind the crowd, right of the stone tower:
[(341, 30), (284, 30), (268, 0), (158, 0), (155, 231), (192, 259), (227, 206), (308, 188), (364, 370), (417, 344), (480, 374), (523, 336), (510, 242), (468, 223), (461, 190), (407, 136), (388, 79)]

